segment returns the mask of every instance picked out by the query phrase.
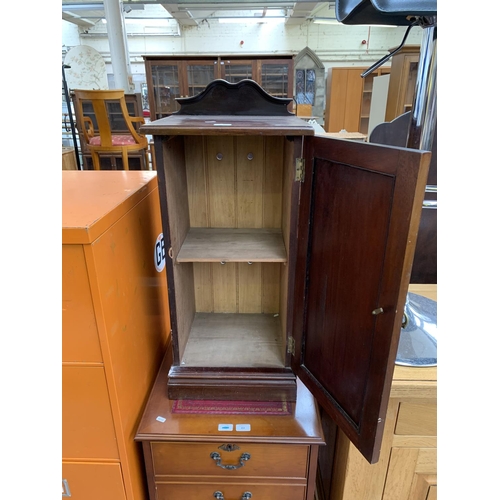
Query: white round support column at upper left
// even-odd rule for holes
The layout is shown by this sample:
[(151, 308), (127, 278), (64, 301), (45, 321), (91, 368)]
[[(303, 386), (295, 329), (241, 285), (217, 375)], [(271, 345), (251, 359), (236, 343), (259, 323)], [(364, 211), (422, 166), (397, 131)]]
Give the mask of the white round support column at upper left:
[(124, 89), (125, 93), (135, 90), (130, 69), (127, 32), (123, 19), (123, 3), (121, 0), (104, 0), (104, 14), (108, 31), (111, 65), (115, 79), (115, 88)]

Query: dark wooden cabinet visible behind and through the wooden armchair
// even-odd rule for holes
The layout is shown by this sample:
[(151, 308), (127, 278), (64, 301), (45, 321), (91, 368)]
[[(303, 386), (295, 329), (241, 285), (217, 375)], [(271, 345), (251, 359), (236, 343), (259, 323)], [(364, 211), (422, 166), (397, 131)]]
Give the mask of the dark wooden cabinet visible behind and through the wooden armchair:
[[(78, 131), (78, 136), (80, 140), (80, 148), (83, 159), (83, 169), (93, 170), (92, 157), (90, 150), (85, 142), (85, 137), (83, 135), (83, 116), (80, 114), (80, 107), (77, 105), (77, 98), (74, 93), (71, 94), (71, 100), (73, 102), (73, 109), (75, 110), (75, 121), (76, 128)], [(127, 104), (127, 109), (130, 116), (143, 116), (142, 113), (142, 97), (141, 94), (126, 94), (125, 102)], [(92, 103), (83, 102), (83, 111), (85, 116), (88, 116), (94, 125), (94, 130), (97, 133), (99, 128), (97, 127), (97, 121), (95, 119), (94, 109)], [(120, 104), (111, 103), (109, 105), (108, 113), (110, 116), (111, 130), (114, 133), (124, 133), (128, 134), (128, 129), (123, 118)], [(101, 154), (101, 170), (123, 170), (123, 162), (121, 155), (116, 154)], [(129, 168), (130, 170), (149, 170), (149, 159), (147, 153), (144, 151), (137, 151), (129, 153)]]

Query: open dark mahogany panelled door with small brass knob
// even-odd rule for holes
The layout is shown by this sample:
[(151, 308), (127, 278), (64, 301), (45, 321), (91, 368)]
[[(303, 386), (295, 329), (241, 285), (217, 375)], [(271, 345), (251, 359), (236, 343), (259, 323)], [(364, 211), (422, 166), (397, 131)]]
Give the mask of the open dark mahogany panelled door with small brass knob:
[(305, 143), (292, 368), (375, 463), (430, 153), (321, 137)]

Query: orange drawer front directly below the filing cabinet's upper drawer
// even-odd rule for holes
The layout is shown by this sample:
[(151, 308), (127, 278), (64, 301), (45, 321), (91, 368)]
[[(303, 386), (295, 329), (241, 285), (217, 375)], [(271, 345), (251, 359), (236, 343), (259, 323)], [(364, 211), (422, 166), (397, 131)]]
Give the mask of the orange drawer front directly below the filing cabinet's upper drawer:
[(118, 459), (104, 368), (63, 366), (62, 455)]

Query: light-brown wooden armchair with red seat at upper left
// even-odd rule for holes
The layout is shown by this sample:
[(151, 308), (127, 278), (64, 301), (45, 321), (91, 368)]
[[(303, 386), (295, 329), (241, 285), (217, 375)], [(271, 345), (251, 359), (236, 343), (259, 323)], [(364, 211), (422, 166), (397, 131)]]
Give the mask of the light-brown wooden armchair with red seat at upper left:
[[(124, 90), (75, 89), (73, 92), (78, 107), (75, 113), (82, 118), (81, 132), (92, 156), (94, 170), (101, 169), (100, 154), (121, 155), (124, 170), (129, 170), (129, 153), (143, 151), (147, 156), (148, 139), (138, 132), (136, 125), (144, 123), (144, 117), (129, 115)], [(88, 106), (84, 112), (84, 102), (91, 103), (92, 112), (88, 111)], [(119, 119), (124, 121), (126, 133), (113, 132), (113, 119), (116, 117), (112, 116), (110, 110), (112, 104), (115, 104), (116, 108), (117, 103), (121, 111)]]

